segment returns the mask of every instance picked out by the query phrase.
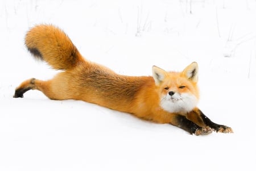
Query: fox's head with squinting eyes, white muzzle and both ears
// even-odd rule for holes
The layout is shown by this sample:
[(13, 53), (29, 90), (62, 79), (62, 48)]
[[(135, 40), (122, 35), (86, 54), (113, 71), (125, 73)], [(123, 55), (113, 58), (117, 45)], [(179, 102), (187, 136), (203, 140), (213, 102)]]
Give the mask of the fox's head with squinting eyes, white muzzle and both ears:
[(196, 62), (188, 65), (182, 72), (166, 72), (153, 66), (152, 74), (159, 90), (160, 106), (163, 110), (184, 114), (196, 107), (199, 100)]

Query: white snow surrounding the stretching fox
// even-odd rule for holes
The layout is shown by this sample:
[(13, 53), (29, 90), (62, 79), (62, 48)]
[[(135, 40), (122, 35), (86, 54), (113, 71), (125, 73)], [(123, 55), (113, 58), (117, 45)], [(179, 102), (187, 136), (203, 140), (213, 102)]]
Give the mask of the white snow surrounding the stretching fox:
[[(170, 124), (15, 87), (55, 71), (24, 47), (52, 23), (88, 60), (120, 74), (199, 64), (199, 107), (234, 134)], [(256, 1), (1, 1), (0, 170), (256, 170)]]

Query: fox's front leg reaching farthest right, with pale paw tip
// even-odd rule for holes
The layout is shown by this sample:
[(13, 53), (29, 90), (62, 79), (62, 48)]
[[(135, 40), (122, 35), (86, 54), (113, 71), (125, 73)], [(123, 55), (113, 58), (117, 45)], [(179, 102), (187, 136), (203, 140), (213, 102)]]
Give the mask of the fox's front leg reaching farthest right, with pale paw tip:
[(210, 127), (213, 131), (223, 132), (223, 133), (232, 133), (233, 130), (230, 127), (217, 124), (212, 122), (207, 116), (203, 114), (203, 112), (199, 109), (193, 109), (191, 112), (187, 114), (187, 119), (196, 123), (200, 127)]

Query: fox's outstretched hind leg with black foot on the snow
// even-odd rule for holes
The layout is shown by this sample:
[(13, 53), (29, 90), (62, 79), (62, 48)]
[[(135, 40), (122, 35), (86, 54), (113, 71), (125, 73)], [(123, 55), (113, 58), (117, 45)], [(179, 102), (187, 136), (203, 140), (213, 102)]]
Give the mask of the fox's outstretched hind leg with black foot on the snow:
[[(51, 91), (49, 90), (49, 81), (37, 80), (35, 78), (31, 78), (29, 80), (23, 81), (15, 89), (14, 98), (21, 97), (23, 98), (23, 94), (28, 90), (39, 90), (42, 91), (48, 98), (51, 98)], [(51, 98), (52, 99), (52, 98)]]

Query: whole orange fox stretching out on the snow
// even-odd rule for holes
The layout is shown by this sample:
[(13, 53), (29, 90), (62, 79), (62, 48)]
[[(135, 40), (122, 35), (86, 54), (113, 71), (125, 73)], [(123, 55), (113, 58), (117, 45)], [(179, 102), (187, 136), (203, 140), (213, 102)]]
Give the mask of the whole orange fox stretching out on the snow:
[(181, 72), (152, 66), (152, 76), (125, 76), (86, 60), (68, 35), (53, 24), (38, 24), (27, 31), (25, 45), (35, 59), (61, 70), (51, 80), (30, 78), (15, 89), (14, 98), (28, 90), (42, 91), (52, 100), (75, 99), (143, 120), (171, 124), (192, 135), (232, 133), (212, 122), (197, 107), (199, 67), (192, 62)]

